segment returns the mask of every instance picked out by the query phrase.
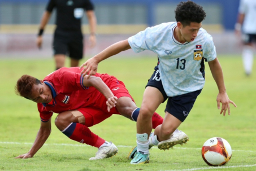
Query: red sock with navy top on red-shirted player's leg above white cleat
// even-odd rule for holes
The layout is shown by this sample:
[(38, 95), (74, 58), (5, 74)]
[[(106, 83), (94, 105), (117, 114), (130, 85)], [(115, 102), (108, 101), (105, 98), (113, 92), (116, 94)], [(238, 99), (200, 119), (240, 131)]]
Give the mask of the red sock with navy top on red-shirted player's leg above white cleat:
[(94, 134), (90, 129), (79, 123), (71, 123), (62, 131), (68, 138), (73, 141), (77, 141), (80, 143), (86, 143), (90, 146), (99, 148), (105, 140)]

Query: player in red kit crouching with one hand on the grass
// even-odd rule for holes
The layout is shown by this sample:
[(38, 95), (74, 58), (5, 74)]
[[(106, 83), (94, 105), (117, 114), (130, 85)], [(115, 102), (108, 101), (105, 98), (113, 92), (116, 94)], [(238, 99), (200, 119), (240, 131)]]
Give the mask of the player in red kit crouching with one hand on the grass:
[[(105, 159), (118, 153), (112, 142), (92, 133), (88, 127), (98, 124), (119, 114), (137, 121), (140, 108), (122, 81), (109, 74), (97, 73), (86, 78), (81, 76), (81, 69), (60, 68), (50, 73), (44, 80), (23, 75), (15, 86), (16, 94), (37, 103), (41, 117), (41, 126), (36, 140), (27, 154), (16, 158), (26, 159), (44, 145), (51, 133), (51, 116), (59, 113), (55, 125), (68, 138), (99, 148), (90, 160)], [(153, 128), (162, 124), (163, 118), (154, 113)]]

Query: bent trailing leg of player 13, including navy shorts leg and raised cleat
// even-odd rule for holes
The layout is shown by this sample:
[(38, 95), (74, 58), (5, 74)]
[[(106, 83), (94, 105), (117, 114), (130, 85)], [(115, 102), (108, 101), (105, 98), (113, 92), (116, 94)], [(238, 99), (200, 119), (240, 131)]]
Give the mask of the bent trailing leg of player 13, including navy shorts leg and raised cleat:
[(176, 131), (176, 129), (186, 119), (200, 93), (201, 90), (197, 90), (168, 98), (163, 124), (155, 129), (160, 150), (168, 150), (176, 144), (183, 144), (189, 140), (188, 135), (183, 131)]

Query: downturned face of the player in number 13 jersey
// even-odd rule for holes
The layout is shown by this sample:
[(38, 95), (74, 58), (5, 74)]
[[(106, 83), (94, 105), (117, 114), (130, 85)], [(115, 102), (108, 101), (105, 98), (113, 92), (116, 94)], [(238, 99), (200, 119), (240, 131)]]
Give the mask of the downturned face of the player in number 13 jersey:
[[(181, 24), (181, 23), (180, 23)], [(185, 27), (181, 24), (180, 33), (186, 42), (192, 42), (197, 37), (199, 29), (202, 27), (202, 23), (191, 22), (190, 25)]]

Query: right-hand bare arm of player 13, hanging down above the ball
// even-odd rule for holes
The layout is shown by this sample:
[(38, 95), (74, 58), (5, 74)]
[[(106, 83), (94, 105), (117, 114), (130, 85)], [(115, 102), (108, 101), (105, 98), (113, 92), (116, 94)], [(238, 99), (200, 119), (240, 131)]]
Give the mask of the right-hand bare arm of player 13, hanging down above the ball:
[(217, 105), (218, 105), (218, 109), (220, 109), (220, 103), (222, 103), (222, 110), (220, 111), (220, 114), (222, 114), (223, 112), (223, 116), (225, 116), (225, 112), (228, 109), (228, 115), (230, 115), (229, 103), (232, 103), (233, 106), (235, 107), (236, 107), (236, 104), (228, 98), (228, 94), (226, 93), (222, 67), (219, 63), (219, 60), (218, 58), (215, 58), (214, 60), (208, 62), (208, 64), (211, 69), (212, 77), (214, 78), (219, 89), (219, 94), (217, 96)]

